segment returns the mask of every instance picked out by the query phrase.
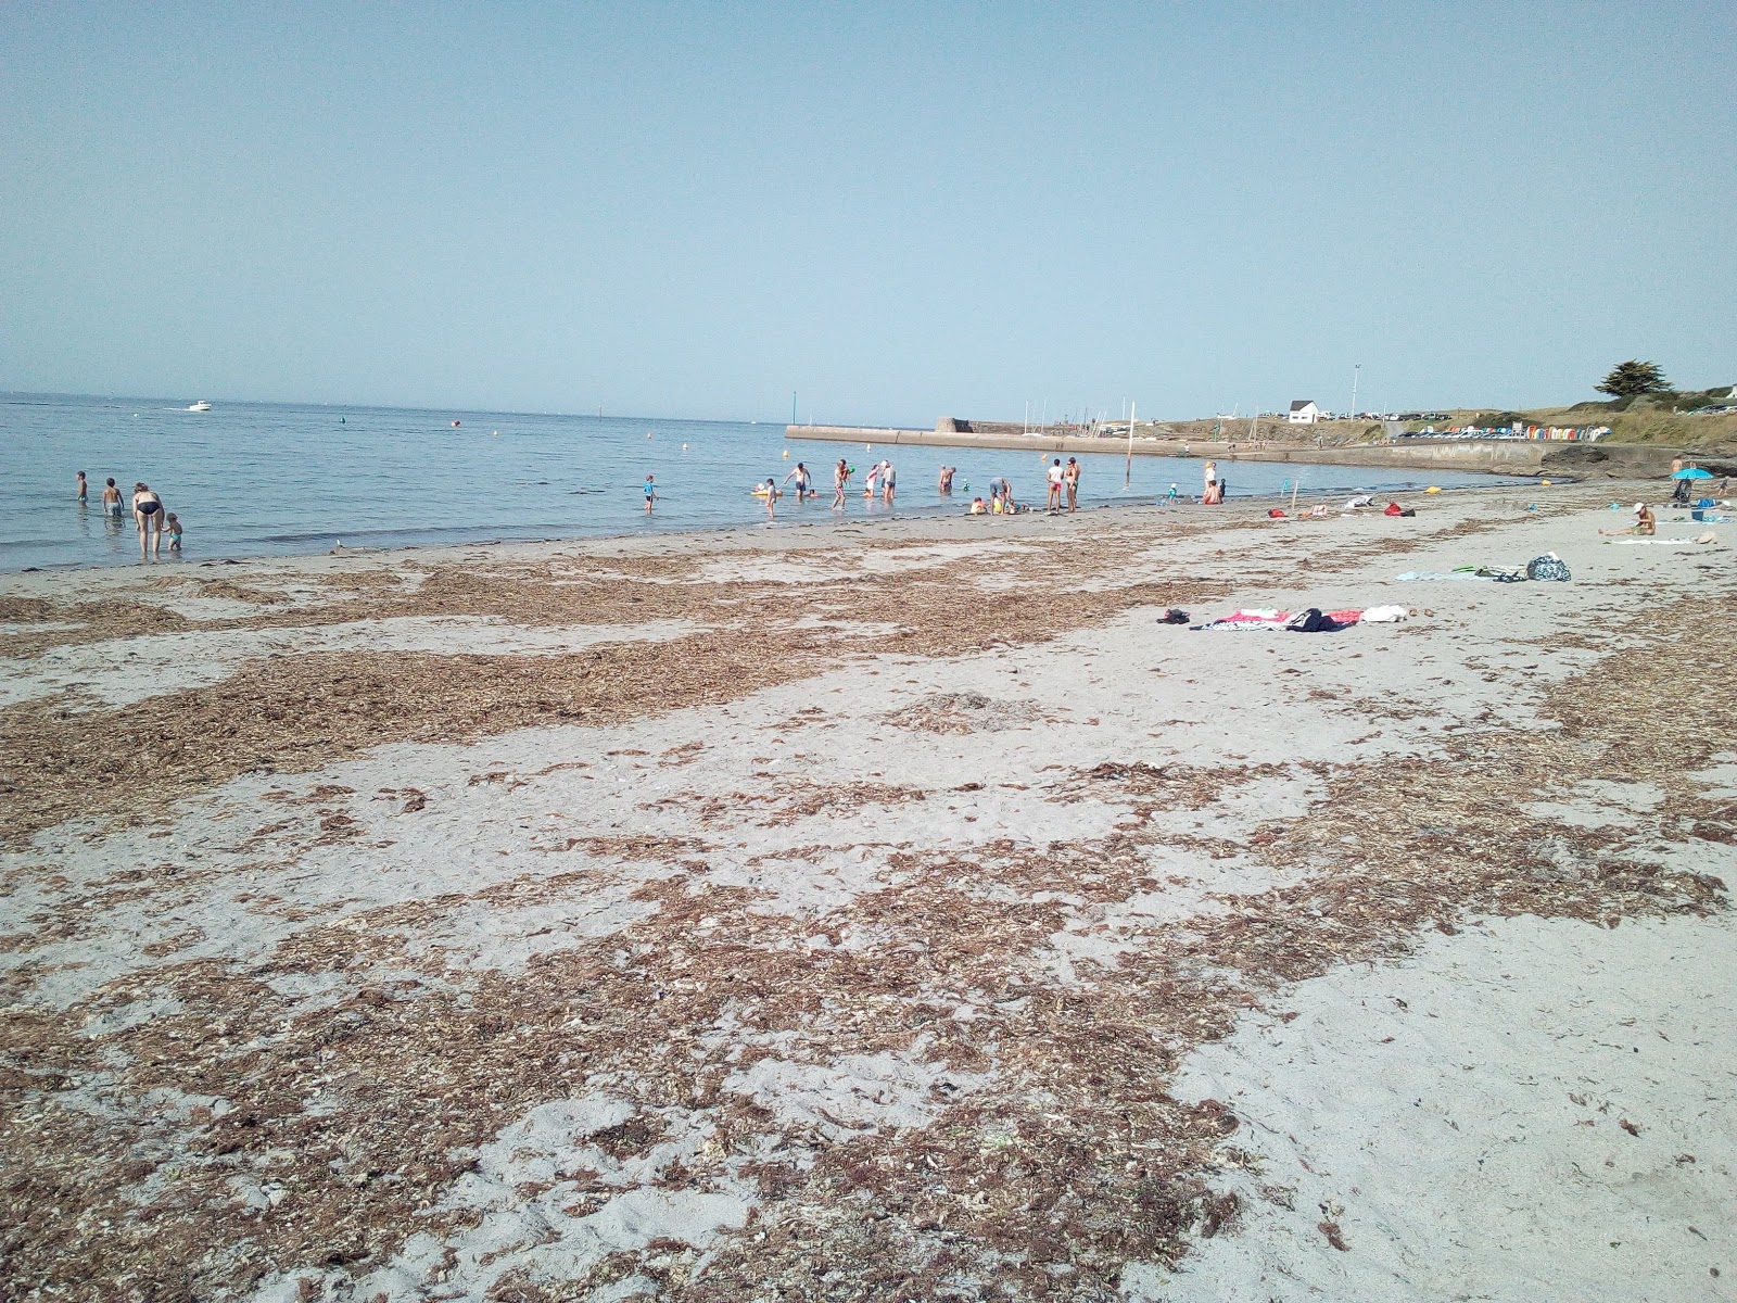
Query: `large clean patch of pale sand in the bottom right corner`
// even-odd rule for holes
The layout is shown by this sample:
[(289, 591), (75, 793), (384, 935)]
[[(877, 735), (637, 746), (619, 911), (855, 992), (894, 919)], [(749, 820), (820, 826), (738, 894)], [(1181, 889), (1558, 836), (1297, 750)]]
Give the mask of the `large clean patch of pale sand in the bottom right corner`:
[(1294, 1022), (1251, 1015), (1178, 1077), (1251, 1124), (1259, 1171), (1226, 1173), (1247, 1225), (1127, 1296), (1727, 1298), (1707, 1268), (1737, 1263), (1734, 945), (1730, 916), (1492, 919), (1303, 983)]

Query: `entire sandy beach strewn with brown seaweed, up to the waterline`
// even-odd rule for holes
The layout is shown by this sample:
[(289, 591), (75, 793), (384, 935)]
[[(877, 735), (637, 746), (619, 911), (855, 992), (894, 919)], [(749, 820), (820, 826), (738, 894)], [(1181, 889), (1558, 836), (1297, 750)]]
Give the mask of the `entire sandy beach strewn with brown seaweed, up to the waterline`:
[(1641, 493), (0, 577), (0, 1296), (1732, 1298)]

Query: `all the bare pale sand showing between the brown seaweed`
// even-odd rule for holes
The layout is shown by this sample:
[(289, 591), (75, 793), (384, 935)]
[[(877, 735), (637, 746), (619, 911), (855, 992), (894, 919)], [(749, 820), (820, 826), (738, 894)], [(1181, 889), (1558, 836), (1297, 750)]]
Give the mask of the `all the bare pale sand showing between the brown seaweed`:
[[(1497, 507), (1466, 500), (1438, 509), (1454, 518)], [(1303, 764), (1438, 754), (1450, 731), (1492, 718), (1537, 724), (1537, 690), (1603, 655), (1560, 645), (1563, 632), (1664, 594), (1707, 585), (1730, 592), (1723, 549), (1607, 547), (1596, 537), (1607, 523), (1600, 513), (1549, 521), (1518, 516), (1470, 542), (1435, 540), (1301, 591), (1287, 591), (1277, 577), (1311, 554), (1390, 537), (1395, 523), (1226, 526), (1148, 549), (1127, 565), (1129, 582), (1207, 572), (1275, 575), (1226, 589), (1223, 603), (1197, 617), (1265, 605), (1433, 610), (1402, 625), (1320, 638), (1190, 632), (1155, 625), (1155, 612), (1141, 608), (1040, 646), (955, 660), (848, 658), (882, 632), (870, 587), (860, 608), (808, 617), (839, 634), (837, 664), (726, 705), (613, 726), (523, 730), (474, 745), (386, 745), (316, 773), (234, 778), (184, 803), (168, 837), (144, 827), (50, 829), (30, 850), (0, 855), (3, 933), (30, 931), (33, 919), (99, 895), (104, 879), (129, 865), (179, 863), (186, 888), (115, 900), (99, 933), (73, 931), (7, 950), (0, 969), (40, 966), (19, 999), (30, 1008), (80, 1009), (87, 1034), (102, 1037), (165, 1009), (155, 999), (104, 1004), (102, 987), (116, 978), (193, 959), (255, 964), (311, 926), (452, 893), (459, 903), (403, 924), (403, 959), (285, 973), (274, 982), (301, 1008), (335, 1004), (398, 978), (420, 990), (466, 990), (483, 971), (523, 971), (535, 956), (611, 936), (648, 917), (657, 905), (636, 891), (669, 877), (674, 870), (665, 862), (566, 848), (570, 839), (625, 834), (707, 841), (712, 850), (703, 863), (684, 870), (688, 891), (743, 888), (756, 912), (790, 919), (809, 947), (881, 945), (891, 938), (851, 924), (848, 914), (898, 881), (898, 851), (976, 853), (997, 839), (1042, 848), (1108, 834), (1127, 817), (1126, 801), (1101, 794), (1058, 804), (1047, 787), (1058, 770), (1101, 761), (1282, 766), (1275, 777), (1226, 787), (1200, 810), (1155, 817), (1167, 832), (1223, 843), (1223, 857), (1166, 850), (1152, 867), (1164, 886), (1112, 907), (1051, 896), (1063, 926), (1032, 959), (1058, 987), (1089, 989), (1126, 956), (1153, 945), (1157, 928), (1219, 914), (1226, 902), (1315, 872), (1299, 858), (1275, 874), (1244, 853), (1258, 825), (1306, 818), (1322, 799), (1318, 777)], [(1016, 525), (1025, 532), (1084, 528)], [(954, 535), (964, 530), (964, 523), (947, 525)], [(712, 558), (707, 579), (789, 580), (796, 591), (829, 575), (872, 584), (872, 577), (968, 558), (981, 563), (974, 582), (994, 591), (1007, 582), (994, 563), (1020, 537), (968, 535), (862, 556), (829, 537), (827, 551), (813, 558), (796, 551), (801, 539), (787, 537)], [(1522, 565), (1546, 547), (1569, 559), (1575, 582), (1393, 579), (1402, 570), (1480, 561)], [(535, 554), (549, 551), (559, 549)], [(422, 552), (420, 561), (438, 558)], [(337, 559), (307, 563), (306, 572), (330, 565)], [(281, 584), (294, 579), (297, 563), (259, 570)], [(259, 584), (262, 575), (245, 582)], [(9, 584), (19, 591), (17, 580)], [(1058, 577), (1053, 599), (1065, 599), (1067, 584)], [(247, 657), (311, 648), (542, 655), (596, 641), (676, 638), (688, 629), (679, 622), (533, 629), (394, 618), (127, 639), (10, 664), (0, 674), (0, 700), (64, 695), (83, 709), (127, 704), (217, 681)], [(985, 726), (948, 735), (893, 723), (902, 711), (952, 693), (990, 698), (995, 709), (980, 719)], [(1388, 712), (1393, 705), (1407, 707), (1402, 718)], [(820, 714), (785, 726), (811, 707)], [(664, 759), (677, 747), (691, 749), (690, 763)], [(820, 785), (905, 784), (922, 796), (780, 820), (782, 797), (764, 775)], [(1728, 797), (1737, 761), (1707, 770), (1702, 787)], [(424, 803), (406, 810), (406, 789)], [(743, 794), (766, 799), (743, 801)], [(719, 801), (710, 815), (709, 797)], [(1553, 794), (1534, 810), (1645, 839), (1657, 836), (1647, 820), (1659, 799), (1650, 785), (1602, 784)], [(321, 818), (330, 815), (356, 820), (356, 836), (318, 844)], [(1714, 855), (1709, 846), (1687, 843), (1673, 853), (1730, 877), (1737, 870), (1730, 848)], [(479, 895), (537, 884), (554, 872), (575, 877), (526, 902), (514, 902), (511, 891)], [(1002, 888), (985, 872), (980, 890)], [(1197, 1051), (1176, 1084), (1179, 1096), (1232, 1103), (1245, 1122), (1237, 1141), (1258, 1152), (1259, 1173), (1212, 1176), (1240, 1192), (1244, 1225), (1200, 1242), (1181, 1275), (1131, 1265), (1126, 1296), (1725, 1298), (1723, 1282), (1707, 1268), (1723, 1267), (1725, 1279), (1737, 1272), (1732, 940), (1727, 917), (1629, 923), (1614, 931), (1490, 919), (1456, 936), (1431, 936), (1403, 962), (1334, 971), (1294, 987), (1280, 1001), (1298, 1013), (1294, 1022), (1251, 1011), (1228, 1041)], [(438, 961), (433, 969), (420, 962), (429, 957)], [(973, 1016), (966, 997), (957, 1009), (954, 1016)], [(261, 1037), (261, 1044), (269, 1041), (264, 1030)], [(806, 1162), (813, 1147), (851, 1134), (940, 1126), (948, 1100), (997, 1079), (994, 1068), (943, 1070), (922, 1058), (921, 1044), (903, 1056), (863, 1056), (834, 1055), (811, 1027), (775, 1029), (773, 1037), (719, 1027), (709, 1041), (726, 1060), (747, 1044), (775, 1044), (771, 1058), (756, 1058), (726, 1084), (769, 1110), (763, 1150), (731, 1159), (714, 1188), (670, 1190), (655, 1181), (667, 1162), (703, 1150), (712, 1129), (705, 1110), (665, 1112), (665, 1138), (646, 1155), (617, 1161), (587, 1138), (636, 1115), (632, 1082), (592, 1086), (500, 1119), (495, 1140), (474, 1155), (474, 1171), (445, 1195), (443, 1207), (478, 1214), (472, 1230), (450, 1239), (419, 1232), (389, 1263), (356, 1277), (295, 1267), (266, 1279), (252, 1298), (295, 1300), (306, 1280), (349, 1300), (375, 1291), (394, 1303), (483, 1300), (509, 1272), (571, 1280), (611, 1251), (665, 1239), (691, 1247), (676, 1254), (683, 1279), (703, 1280), (710, 1254), (759, 1207), (743, 1174), (749, 1157)], [(115, 1096), (104, 1107), (144, 1105)], [(1621, 1119), (1635, 1122), (1640, 1136), (1619, 1129)], [(1680, 1161), (1685, 1154), (1694, 1162)], [(577, 1166), (601, 1173), (604, 1190), (571, 1211), (575, 1188), (563, 1187), (563, 1173)], [(547, 1181), (554, 1185), (535, 1190)], [(1263, 1195), (1265, 1187), (1271, 1192)], [(236, 1199), (264, 1209), (262, 1216), (274, 1207), (267, 1183), (254, 1178), (241, 1180)], [(1317, 1230), (1322, 1220), (1343, 1228), (1348, 1251), (1327, 1244)], [(245, 1225), (234, 1234), (245, 1239)], [(438, 1293), (427, 1293), (436, 1282)], [(651, 1284), (627, 1277), (589, 1296), (627, 1298)]]

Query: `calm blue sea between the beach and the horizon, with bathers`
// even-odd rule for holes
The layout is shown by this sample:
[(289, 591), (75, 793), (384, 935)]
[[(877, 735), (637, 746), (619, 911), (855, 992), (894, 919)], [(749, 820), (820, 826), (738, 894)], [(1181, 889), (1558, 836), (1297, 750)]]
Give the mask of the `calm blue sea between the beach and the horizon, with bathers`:
[[(130, 497), (146, 481), (186, 528), (186, 559), (403, 547), (488, 539), (556, 539), (757, 525), (766, 511), (750, 488), (783, 480), (797, 460), (823, 495), (783, 499), (773, 528), (884, 516), (863, 502), (862, 476), (882, 455), (898, 467), (896, 514), (962, 513), (992, 476), (1021, 500), (1042, 502), (1046, 459), (1035, 450), (797, 443), (783, 426), (644, 417), (420, 412), (375, 407), (217, 403), (149, 398), (0, 398), (0, 570), (137, 563), (132, 516), (104, 519), (102, 481)], [(459, 422), (453, 426), (453, 422)], [(648, 438), (650, 436), (650, 438)], [(856, 488), (844, 513), (829, 509), (832, 464), (848, 457)], [(1082, 506), (1162, 497), (1174, 481), (1199, 492), (1200, 462), (1134, 457), (1122, 488), (1115, 452), (1082, 459)], [(957, 466), (943, 502), (936, 474)], [(1232, 495), (1350, 490), (1407, 492), (1424, 483), (1497, 483), (1490, 476), (1346, 466), (1226, 462)], [(90, 476), (75, 500), (73, 476)], [(641, 485), (657, 476), (648, 518)], [(167, 552), (165, 552), (167, 556)]]

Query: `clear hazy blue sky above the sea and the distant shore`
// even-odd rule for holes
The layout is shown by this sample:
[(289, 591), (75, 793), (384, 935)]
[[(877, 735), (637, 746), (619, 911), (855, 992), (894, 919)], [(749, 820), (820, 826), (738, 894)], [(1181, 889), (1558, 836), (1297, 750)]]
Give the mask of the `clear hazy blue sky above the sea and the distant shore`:
[(1737, 5), (9, 3), (0, 387), (931, 424), (1737, 382)]

